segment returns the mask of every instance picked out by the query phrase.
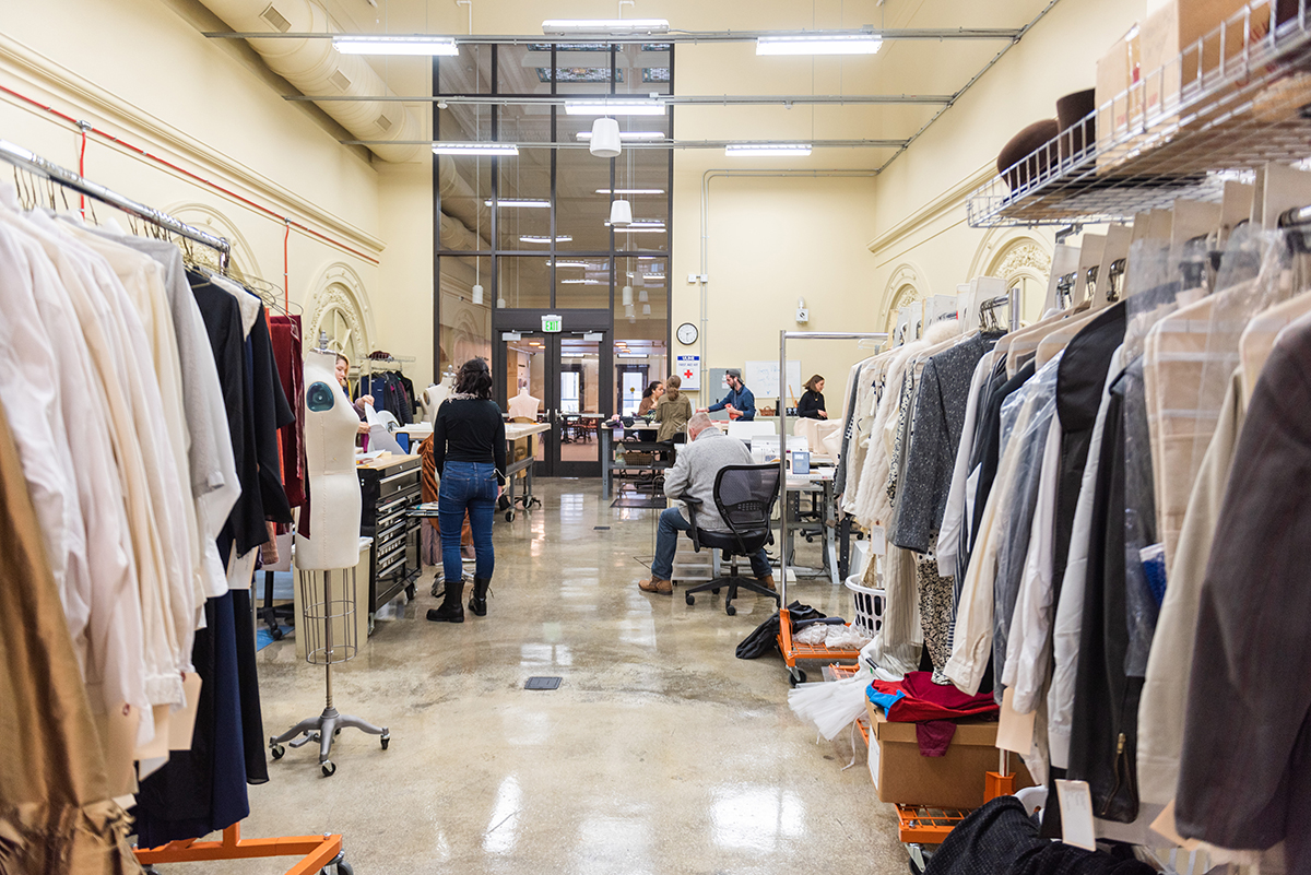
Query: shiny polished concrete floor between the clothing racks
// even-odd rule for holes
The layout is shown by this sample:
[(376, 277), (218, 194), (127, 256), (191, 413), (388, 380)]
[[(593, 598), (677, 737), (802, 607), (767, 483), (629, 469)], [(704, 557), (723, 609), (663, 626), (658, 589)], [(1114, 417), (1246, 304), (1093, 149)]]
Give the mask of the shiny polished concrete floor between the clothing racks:
[[(817, 744), (788, 710), (783, 660), (734, 658), (772, 601), (743, 596), (728, 617), (722, 596), (642, 593), (658, 511), (611, 508), (598, 481), (536, 486), (540, 510), (497, 520), (486, 617), (427, 622), (427, 574), (334, 671), (337, 707), (388, 726), (391, 749), (346, 730), (332, 778), (315, 745), (287, 751), (250, 789), (244, 834), (342, 833), (361, 875), (905, 872), (860, 736), (843, 770), (850, 741)], [(802, 580), (789, 599), (850, 617), (846, 592)], [(269, 734), (321, 710), (324, 672), (291, 642), (260, 659)], [(535, 675), (564, 680), (524, 690)]]

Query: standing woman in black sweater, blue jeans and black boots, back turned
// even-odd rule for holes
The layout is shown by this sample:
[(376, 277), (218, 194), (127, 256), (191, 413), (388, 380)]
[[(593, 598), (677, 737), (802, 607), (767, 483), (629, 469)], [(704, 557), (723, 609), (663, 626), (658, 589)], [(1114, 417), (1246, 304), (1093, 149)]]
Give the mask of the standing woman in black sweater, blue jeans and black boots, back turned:
[(433, 461), (442, 482), (437, 491), (437, 519), (442, 529), (442, 571), (446, 593), (440, 608), (427, 612), (434, 622), (464, 622), (464, 567), (460, 528), (468, 511), (473, 531), (473, 596), (469, 610), (488, 612), (488, 587), (496, 554), (492, 517), (505, 482), (505, 419), (492, 401), (492, 372), (484, 359), (469, 359), (455, 379), (455, 393), (437, 409), (433, 423)]

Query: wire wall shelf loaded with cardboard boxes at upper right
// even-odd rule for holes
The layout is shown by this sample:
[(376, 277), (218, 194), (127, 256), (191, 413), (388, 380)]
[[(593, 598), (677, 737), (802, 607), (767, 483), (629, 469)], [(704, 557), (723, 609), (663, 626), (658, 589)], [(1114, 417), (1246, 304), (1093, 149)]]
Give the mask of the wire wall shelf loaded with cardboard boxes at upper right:
[(1311, 156), (1311, 0), (1270, 29), (1278, 1), (1252, 0), (1093, 110), (1075, 126), (1087, 148), (1063, 132), (977, 189), (970, 227), (1127, 220)]

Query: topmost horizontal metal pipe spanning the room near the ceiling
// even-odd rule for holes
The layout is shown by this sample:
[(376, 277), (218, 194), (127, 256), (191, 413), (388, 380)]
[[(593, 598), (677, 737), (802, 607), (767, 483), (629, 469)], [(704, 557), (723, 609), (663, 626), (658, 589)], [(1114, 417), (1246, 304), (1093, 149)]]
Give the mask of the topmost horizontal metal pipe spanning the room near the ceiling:
[(1006, 39), (1013, 42), (1025, 29), (1015, 28), (902, 28), (885, 29), (859, 28), (846, 30), (671, 30), (665, 34), (569, 34), (561, 35), (507, 35), (507, 34), (343, 34), (343, 33), (266, 33), (245, 30), (210, 30), (210, 39), (376, 39), (379, 37), (425, 37), (430, 39), (452, 39), (456, 45), (499, 43), (507, 46), (526, 45), (572, 45), (572, 43), (709, 43), (709, 42), (755, 42), (770, 37), (878, 37), (880, 39)]

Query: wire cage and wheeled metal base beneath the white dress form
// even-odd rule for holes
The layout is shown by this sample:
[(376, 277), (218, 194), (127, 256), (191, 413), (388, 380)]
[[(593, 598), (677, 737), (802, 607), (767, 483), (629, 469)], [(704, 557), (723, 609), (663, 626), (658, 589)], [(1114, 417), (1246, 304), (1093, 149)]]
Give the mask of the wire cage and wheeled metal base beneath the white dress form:
[[(324, 705), (323, 714), (319, 717), (309, 717), (300, 720), (294, 727), (283, 732), (277, 737), (269, 739), (269, 751), (273, 753), (274, 760), (281, 760), (287, 752), (283, 743), (290, 743), (290, 747), (299, 748), (309, 744), (311, 741), (319, 743), (319, 768), (323, 770), (325, 778), (330, 778), (337, 773), (337, 765), (329, 758), (332, 753), (332, 743), (337, 735), (345, 728), (355, 728), (370, 735), (382, 736), (383, 749), (391, 743), (392, 736), (387, 727), (376, 727), (372, 723), (350, 715), (341, 714), (333, 706), (332, 702), (332, 667), (338, 663), (346, 663), (355, 658), (359, 651), (355, 643), (355, 570), (343, 568), (343, 576), (347, 579), (346, 595), (342, 599), (334, 600), (332, 597), (332, 572), (324, 571), (324, 588), (323, 597), (315, 592), (313, 587), (313, 574), (302, 571), (302, 600), (303, 600), (303, 613), (304, 622), (303, 627), (308, 635), (305, 641), (305, 661), (313, 665), (323, 665), (326, 682), (326, 701)], [(336, 608), (336, 609), (334, 609)], [(342, 629), (342, 644), (334, 647), (333, 644), (333, 624), (340, 622)], [(320, 625), (324, 635), (323, 647), (316, 647), (317, 635), (320, 631)], [(299, 630), (298, 630), (299, 631)], [(292, 741), (291, 739), (298, 740)]]

